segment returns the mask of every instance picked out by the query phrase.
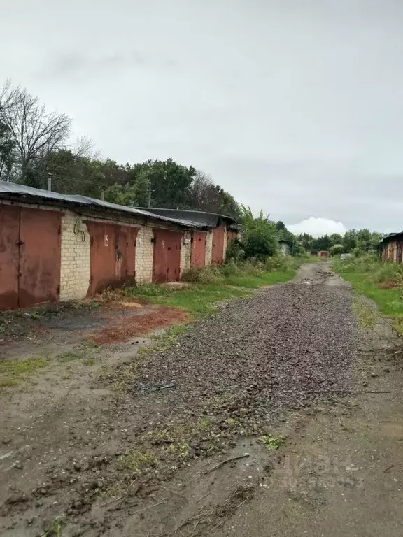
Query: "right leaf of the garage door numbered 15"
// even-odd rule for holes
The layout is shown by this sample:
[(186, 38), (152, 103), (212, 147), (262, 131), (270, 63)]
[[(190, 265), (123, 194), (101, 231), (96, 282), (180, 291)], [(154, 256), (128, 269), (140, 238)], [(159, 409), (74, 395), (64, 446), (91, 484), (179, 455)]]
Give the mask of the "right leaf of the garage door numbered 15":
[(137, 231), (135, 227), (115, 227), (115, 285), (135, 282)]

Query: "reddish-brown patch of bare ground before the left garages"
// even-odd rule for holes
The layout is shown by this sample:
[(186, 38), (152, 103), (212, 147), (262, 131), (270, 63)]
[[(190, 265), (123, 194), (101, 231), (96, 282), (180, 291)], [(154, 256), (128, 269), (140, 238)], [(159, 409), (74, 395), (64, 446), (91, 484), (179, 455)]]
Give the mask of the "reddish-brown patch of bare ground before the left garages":
[(138, 310), (134, 315), (115, 317), (108, 328), (88, 334), (85, 339), (107, 345), (108, 343), (123, 343), (134, 336), (149, 334), (157, 328), (170, 327), (188, 321), (188, 314), (177, 308), (155, 307), (152, 310)]

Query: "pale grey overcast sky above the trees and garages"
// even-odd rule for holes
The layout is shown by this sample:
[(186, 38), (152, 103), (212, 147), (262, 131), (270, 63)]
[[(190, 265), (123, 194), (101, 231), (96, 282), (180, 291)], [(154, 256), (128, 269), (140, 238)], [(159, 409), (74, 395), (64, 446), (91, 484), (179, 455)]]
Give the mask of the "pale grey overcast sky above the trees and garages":
[(192, 164), (292, 229), (403, 229), (402, 0), (0, 2), (1, 76), (104, 157)]

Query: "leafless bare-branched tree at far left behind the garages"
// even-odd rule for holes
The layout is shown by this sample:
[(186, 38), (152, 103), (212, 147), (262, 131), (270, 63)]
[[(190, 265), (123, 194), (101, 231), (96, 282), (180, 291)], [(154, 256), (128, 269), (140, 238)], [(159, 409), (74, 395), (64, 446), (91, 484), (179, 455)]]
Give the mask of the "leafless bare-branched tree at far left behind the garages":
[(3, 88), (0, 99), (0, 122), (15, 145), (15, 165), (24, 180), (35, 161), (64, 146), (71, 134), (71, 120), (64, 114), (48, 113), (37, 97), (10, 84)]

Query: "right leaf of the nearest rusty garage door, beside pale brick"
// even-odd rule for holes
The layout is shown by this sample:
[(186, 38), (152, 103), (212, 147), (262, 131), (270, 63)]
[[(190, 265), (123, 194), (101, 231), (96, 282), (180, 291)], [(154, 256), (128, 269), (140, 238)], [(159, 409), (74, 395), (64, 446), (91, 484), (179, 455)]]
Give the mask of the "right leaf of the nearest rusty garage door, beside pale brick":
[(19, 306), (59, 299), (60, 213), (21, 208)]

